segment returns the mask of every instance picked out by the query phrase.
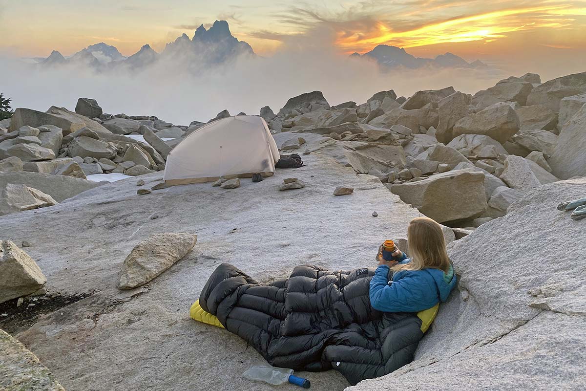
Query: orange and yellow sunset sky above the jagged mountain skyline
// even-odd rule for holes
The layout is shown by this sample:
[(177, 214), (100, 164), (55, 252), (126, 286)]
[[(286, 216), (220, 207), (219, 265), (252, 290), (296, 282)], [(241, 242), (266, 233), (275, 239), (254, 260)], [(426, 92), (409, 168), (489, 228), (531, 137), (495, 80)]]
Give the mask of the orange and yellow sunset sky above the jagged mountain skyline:
[(386, 43), (416, 56), (449, 51), (489, 63), (578, 61), (586, 53), (586, 1), (0, 0), (0, 7), (0, 51), (21, 57), (53, 49), (67, 56), (97, 42), (127, 56), (145, 43), (160, 51), (216, 19), (264, 56), (296, 42), (338, 53)]

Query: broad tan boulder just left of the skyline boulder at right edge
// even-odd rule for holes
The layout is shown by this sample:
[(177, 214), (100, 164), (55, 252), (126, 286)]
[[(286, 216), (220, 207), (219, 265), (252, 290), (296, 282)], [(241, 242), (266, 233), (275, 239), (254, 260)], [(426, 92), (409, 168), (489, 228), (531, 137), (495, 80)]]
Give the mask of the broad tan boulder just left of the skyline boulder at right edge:
[(520, 80), (501, 80), (494, 87), (478, 91), (472, 96), (471, 103), (482, 110), (499, 102), (518, 102), (521, 106), (527, 103), (527, 96), (533, 90), (533, 84)]

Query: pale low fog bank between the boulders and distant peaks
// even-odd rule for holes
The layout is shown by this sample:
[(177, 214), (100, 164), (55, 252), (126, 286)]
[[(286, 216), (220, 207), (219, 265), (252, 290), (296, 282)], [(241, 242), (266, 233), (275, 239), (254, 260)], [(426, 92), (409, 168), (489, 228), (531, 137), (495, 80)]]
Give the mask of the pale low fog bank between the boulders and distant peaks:
[(321, 90), (331, 104), (363, 103), (377, 91), (394, 89), (410, 96), (417, 90), (454, 86), (466, 93), (492, 86), (503, 74), (473, 69), (381, 72), (377, 64), (349, 59), (319, 46), (292, 41), (270, 58), (241, 58), (199, 74), (185, 71), (180, 60), (166, 60), (142, 72), (95, 74), (87, 69), (32, 70), (13, 59), (0, 59), (1, 74), (10, 74), (2, 91), (13, 107), (47, 110), (76, 105), (77, 98), (98, 101), (106, 113), (156, 115), (175, 124), (207, 121), (227, 108), (231, 114), (276, 112), (288, 98)]

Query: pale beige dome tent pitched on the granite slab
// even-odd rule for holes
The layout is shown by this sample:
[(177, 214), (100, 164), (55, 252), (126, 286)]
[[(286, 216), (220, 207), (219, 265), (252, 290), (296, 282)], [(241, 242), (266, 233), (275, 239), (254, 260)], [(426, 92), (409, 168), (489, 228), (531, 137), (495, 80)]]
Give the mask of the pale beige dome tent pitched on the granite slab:
[(237, 115), (203, 125), (167, 156), (169, 185), (216, 181), (220, 176), (250, 178), (275, 172), (279, 150), (262, 117)]

